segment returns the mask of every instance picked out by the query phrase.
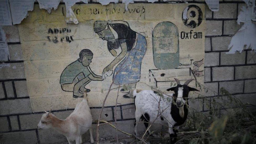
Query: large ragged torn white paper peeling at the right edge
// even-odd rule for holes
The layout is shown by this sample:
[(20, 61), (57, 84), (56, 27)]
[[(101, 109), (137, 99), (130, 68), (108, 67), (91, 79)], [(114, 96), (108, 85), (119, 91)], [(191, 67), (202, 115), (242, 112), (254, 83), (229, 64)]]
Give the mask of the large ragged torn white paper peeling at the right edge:
[(243, 26), (232, 37), (227, 54), (234, 54), (236, 51), (242, 52), (244, 48), (256, 50), (256, 25), (252, 23), (255, 18), (255, 1), (248, 8), (242, 7), (237, 17), (237, 23), (244, 23)]

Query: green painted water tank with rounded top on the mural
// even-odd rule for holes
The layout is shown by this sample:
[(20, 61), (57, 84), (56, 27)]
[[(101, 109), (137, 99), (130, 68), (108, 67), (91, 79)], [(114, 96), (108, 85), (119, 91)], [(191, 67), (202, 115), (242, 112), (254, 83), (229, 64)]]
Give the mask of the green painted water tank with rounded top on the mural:
[(158, 69), (173, 69), (179, 66), (178, 28), (171, 22), (158, 23), (153, 32), (154, 65)]

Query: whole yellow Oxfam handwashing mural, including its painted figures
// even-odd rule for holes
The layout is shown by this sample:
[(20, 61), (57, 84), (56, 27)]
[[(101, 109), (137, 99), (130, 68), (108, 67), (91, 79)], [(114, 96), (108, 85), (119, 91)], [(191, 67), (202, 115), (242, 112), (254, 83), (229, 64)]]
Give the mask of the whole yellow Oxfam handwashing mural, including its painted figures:
[(117, 93), (118, 104), (133, 103), (129, 89), (165, 91), (174, 77), (204, 83), (204, 4), (124, 8), (74, 5), (77, 25), (63, 21), (62, 6), (52, 14), (38, 9), (42, 16), (33, 11), (19, 25), (34, 112), (74, 108), (83, 91), (90, 106), (101, 106), (112, 82), (105, 106), (115, 105)]

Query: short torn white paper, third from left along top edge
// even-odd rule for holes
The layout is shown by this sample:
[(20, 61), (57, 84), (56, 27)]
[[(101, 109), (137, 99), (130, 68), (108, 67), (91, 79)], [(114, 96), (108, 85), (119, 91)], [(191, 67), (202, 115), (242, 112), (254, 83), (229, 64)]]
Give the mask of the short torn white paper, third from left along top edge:
[(58, 1), (47, 1), (47, 0), (37, 0), (39, 3), (39, 8), (44, 8), (50, 14), (51, 9), (54, 8), (56, 10), (59, 6), (60, 0)]

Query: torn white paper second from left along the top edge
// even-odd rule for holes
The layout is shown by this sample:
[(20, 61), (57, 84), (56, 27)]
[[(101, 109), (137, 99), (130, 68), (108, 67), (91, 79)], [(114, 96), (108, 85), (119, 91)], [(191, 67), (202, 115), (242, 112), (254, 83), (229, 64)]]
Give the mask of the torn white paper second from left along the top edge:
[(9, 1), (13, 24), (20, 24), (34, 9), (34, 1)]

